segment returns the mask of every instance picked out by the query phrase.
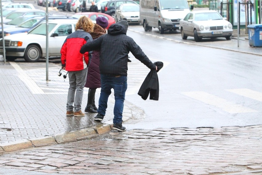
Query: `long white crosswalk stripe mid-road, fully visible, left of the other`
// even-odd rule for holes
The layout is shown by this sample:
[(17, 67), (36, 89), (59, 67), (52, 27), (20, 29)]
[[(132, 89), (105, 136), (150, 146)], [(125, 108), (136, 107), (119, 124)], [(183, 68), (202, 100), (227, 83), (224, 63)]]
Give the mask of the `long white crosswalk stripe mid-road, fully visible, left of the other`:
[(199, 100), (203, 103), (210, 104), (212, 106), (216, 106), (217, 108), (221, 108), (222, 110), (235, 114), (235, 113), (244, 113), (244, 112), (257, 112), (256, 110), (241, 106), (239, 104), (234, 104), (229, 102), (223, 98), (214, 96), (207, 92), (183, 92), (184, 95), (189, 96), (190, 98)]

